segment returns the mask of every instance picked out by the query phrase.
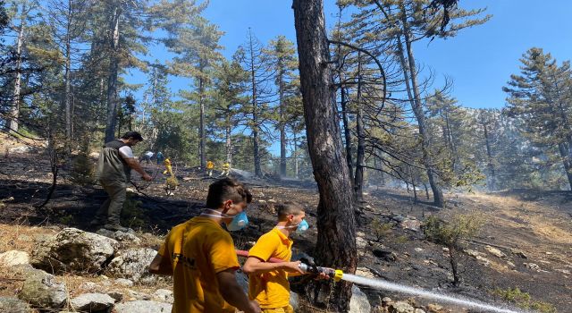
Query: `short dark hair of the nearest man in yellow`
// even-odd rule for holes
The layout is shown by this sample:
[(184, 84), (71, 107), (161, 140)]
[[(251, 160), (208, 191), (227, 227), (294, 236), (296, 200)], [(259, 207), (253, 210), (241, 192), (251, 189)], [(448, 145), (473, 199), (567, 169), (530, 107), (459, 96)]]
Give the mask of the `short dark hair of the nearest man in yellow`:
[(208, 186), (208, 195), (206, 196), (206, 207), (218, 208), (224, 201), (232, 200), (234, 203), (252, 201), (252, 193), (242, 183), (233, 178), (225, 177)]

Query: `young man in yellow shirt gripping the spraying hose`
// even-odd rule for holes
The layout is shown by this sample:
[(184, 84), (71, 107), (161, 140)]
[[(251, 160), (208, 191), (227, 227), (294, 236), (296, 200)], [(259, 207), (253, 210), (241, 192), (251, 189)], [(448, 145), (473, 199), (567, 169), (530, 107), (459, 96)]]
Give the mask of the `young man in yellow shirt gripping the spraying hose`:
[[(248, 251), (242, 270), (248, 274), (248, 298), (257, 300), (265, 313), (293, 313), (290, 306), (289, 276), (303, 275), (300, 262), (290, 262), (292, 257), (291, 233), (307, 230), (304, 208), (295, 202), (277, 206), (278, 224), (262, 235)], [(267, 262), (280, 258), (283, 263)]]

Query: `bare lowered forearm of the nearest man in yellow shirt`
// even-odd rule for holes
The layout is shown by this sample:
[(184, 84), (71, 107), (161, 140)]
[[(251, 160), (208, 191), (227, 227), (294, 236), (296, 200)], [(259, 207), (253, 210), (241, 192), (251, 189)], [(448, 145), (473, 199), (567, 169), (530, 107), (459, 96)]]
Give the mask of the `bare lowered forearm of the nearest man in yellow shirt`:
[(261, 312), (257, 301), (248, 300), (248, 297), (240, 288), (240, 284), (236, 281), (234, 269), (229, 268), (216, 274), (218, 281), (218, 290), (223, 295), (223, 299), (229, 304), (244, 313)]

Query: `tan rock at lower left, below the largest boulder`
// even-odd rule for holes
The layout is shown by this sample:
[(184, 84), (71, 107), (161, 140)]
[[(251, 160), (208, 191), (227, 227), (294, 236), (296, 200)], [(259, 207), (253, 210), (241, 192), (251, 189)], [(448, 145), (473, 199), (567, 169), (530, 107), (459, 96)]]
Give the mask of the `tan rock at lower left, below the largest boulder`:
[(58, 309), (65, 304), (65, 285), (57, 283), (54, 275), (31, 266), (23, 266), (22, 278), (24, 283), (18, 298), (28, 301), (34, 308)]

